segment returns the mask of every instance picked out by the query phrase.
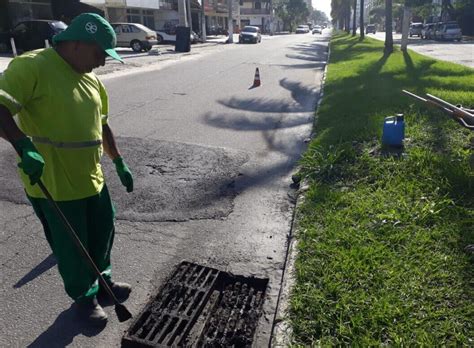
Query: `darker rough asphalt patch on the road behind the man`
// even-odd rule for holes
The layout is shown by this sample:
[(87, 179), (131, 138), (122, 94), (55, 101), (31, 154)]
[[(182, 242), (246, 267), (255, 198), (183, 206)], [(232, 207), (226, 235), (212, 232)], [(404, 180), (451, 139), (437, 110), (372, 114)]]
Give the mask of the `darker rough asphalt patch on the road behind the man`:
[[(242, 151), (177, 142), (117, 137), (121, 154), (133, 173), (134, 191), (127, 193), (115, 167), (104, 155), (102, 167), (117, 208), (129, 221), (219, 219), (232, 212), (234, 180), (248, 161)], [(27, 204), (16, 173), (13, 150), (0, 151), (0, 199)]]

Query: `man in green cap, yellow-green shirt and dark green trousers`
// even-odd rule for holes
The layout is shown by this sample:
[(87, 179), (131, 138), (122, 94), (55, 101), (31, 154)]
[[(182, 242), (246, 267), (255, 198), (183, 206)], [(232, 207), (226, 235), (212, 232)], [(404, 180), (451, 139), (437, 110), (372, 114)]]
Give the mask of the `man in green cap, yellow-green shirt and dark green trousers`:
[[(41, 179), (114, 295), (124, 301), (131, 287), (112, 281), (110, 254), (114, 208), (100, 166), (103, 151), (115, 163), (127, 192), (133, 178), (108, 125), (108, 97), (92, 73), (115, 52), (116, 36), (101, 16), (84, 13), (53, 38), (54, 47), (15, 58), (0, 76), (0, 128), (20, 154), (26, 195), (57, 259), (67, 294), (93, 324), (107, 314), (106, 297), (64, 224), (36, 185)], [(13, 119), (17, 115), (17, 123)]]

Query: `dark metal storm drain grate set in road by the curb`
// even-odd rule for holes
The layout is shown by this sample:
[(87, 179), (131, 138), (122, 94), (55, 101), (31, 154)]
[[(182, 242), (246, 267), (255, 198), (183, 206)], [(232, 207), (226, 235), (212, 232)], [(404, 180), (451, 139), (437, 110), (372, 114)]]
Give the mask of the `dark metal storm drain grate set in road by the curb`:
[(251, 346), (268, 279), (182, 262), (122, 338), (122, 347)]

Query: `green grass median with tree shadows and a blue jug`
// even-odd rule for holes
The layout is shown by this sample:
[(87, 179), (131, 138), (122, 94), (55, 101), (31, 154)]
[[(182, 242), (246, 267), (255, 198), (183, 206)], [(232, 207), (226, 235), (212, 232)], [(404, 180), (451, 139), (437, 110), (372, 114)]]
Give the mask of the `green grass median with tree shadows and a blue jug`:
[[(474, 101), (474, 70), (339, 34), (298, 214), (295, 345), (474, 345), (471, 134), (401, 93)], [(402, 155), (383, 119), (403, 113)]]

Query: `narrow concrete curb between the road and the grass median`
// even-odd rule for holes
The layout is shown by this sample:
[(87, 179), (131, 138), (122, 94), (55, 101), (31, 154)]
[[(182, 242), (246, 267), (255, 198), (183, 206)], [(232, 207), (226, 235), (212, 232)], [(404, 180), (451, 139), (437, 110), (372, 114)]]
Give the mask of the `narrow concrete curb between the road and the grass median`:
[[(316, 104), (315, 118), (317, 118), (317, 113), (324, 96), (324, 86), (326, 83), (329, 59), (331, 56), (330, 44), (331, 44), (331, 41), (329, 41), (328, 43), (328, 48), (327, 48), (328, 55), (326, 59), (326, 66), (324, 67), (323, 77), (321, 79), (321, 89), (319, 93), (319, 99)], [(313, 136), (314, 136), (314, 132), (311, 134), (310, 138), (312, 139)], [(295, 209), (294, 209), (293, 217), (291, 221), (290, 233), (288, 236), (287, 255), (285, 259), (285, 265), (283, 268), (282, 282), (281, 282), (280, 293), (277, 299), (275, 316), (273, 319), (273, 327), (272, 327), (272, 333), (270, 335), (269, 347), (289, 347), (292, 345), (293, 330), (292, 330), (290, 321), (288, 320), (288, 310), (289, 310), (289, 298), (290, 298), (291, 290), (296, 282), (295, 262), (296, 262), (296, 257), (298, 255), (298, 250), (297, 250), (298, 240), (295, 238), (295, 235), (296, 235), (296, 232), (299, 230), (298, 211), (300, 210), (300, 207), (303, 205), (306, 199), (305, 193), (308, 189), (309, 189), (309, 184), (305, 180), (303, 180), (301, 182), (300, 188), (298, 189), (296, 193), (296, 204), (295, 204)]]

